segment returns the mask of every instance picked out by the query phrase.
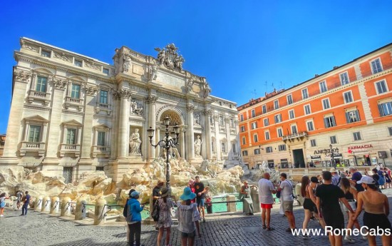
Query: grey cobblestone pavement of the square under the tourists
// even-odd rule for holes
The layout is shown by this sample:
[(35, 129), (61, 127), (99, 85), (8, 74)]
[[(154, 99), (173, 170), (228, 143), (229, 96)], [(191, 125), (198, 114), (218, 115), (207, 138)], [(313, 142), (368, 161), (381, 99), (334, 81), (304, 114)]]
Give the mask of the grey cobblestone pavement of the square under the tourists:
[[(392, 189), (383, 191), (392, 204)], [(278, 205), (275, 205), (278, 207)], [(391, 206), (392, 207), (392, 206)], [(0, 217), (1, 246), (43, 246), (43, 245), (81, 245), (81, 246), (126, 246), (126, 230), (124, 225), (78, 225), (75, 222), (62, 220), (60, 217), (51, 217), (39, 212), (29, 211), (27, 216), (19, 216), (20, 211), (5, 210), (4, 217)], [(301, 227), (304, 212), (301, 207), (294, 209), (296, 226)], [(362, 218), (360, 217), (360, 224)], [(309, 240), (294, 237), (285, 232), (288, 227), (287, 219), (279, 215), (277, 208), (272, 210), (272, 227), (276, 230), (266, 231), (261, 228), (260, 215), (244, 216), (240, 213), (212, 215), (207, 222), (200, 223), (202, 237), (197, 238), (195, 245), (222, 246), (222, 245), (329, 245), (326, 236), (314, 236)], [(319, 228), (316, 221), (309, 222), (308, 227)], [(180, 245), (180, 234), (177, 227), (172, 227), (172, 246)], [(156, 245), (158, 232), (152, 225), (143, 225), (142, 244)], [(360, 236), (354, 236), (354, 245), (368, 245)], [(381, 242), (378, 239), (377, 245)], [(350, 245), (344, 242), (344, 245)]]

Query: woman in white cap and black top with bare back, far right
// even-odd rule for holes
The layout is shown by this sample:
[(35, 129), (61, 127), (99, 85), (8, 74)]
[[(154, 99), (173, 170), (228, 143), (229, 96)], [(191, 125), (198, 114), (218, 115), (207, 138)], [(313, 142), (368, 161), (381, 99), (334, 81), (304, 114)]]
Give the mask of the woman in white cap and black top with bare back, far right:
[[(388, 220), (389, 202), (388, 197), (383, 193), (379, 193), (376, 187), (376, 182), (371, 177), (363, 176), (357, 183), (363, 186), (362, 193), (358, 193), (356, 213), (352, 220), (356, 220), (362, 212), (362, 205), (365, 209), (363, 214), (363, 225), (368, 227), (368, 230), (376, 230), (380, 233), (383, 246), (391, 245), (391, 235), (386, 235), (386, 229), (391, 232), (391, 222)], [(381, 231), (380, 231), (381, 230)], [(383, 233), (381, 233), (383, 232)], [(376, 236), (371, 233), (368, 234), (368, 244), (376, 245)]]

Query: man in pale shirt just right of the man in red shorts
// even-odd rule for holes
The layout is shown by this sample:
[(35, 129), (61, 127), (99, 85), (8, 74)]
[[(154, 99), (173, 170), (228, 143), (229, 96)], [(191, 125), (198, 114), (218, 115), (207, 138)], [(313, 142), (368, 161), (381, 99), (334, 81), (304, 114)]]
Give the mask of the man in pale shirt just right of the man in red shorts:
[(277, 192), (281, 192), (282, 195), (282, 207), (284, 211), (284, 215), (286, 215), (287, 220), (289, 221), (289, 228), (287, 228), (286, 232), (292, 232), (292, 229), (295, 229), (295, 217), (293, 213), (293, 205), (294, 205), (294, 194), (293, 194), (293, 185), (287, 180), (287, 174), (280, 174), (280, 186)]

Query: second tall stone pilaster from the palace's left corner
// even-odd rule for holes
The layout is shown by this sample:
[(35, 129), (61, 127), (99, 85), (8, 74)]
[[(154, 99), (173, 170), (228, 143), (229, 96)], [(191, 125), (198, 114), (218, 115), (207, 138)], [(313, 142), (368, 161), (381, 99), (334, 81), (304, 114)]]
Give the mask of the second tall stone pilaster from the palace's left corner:
[(68, 81), (59, 78), (53, 78), (53, 97), (51, 119), (48, 127), (48, 141), (46, 147), (46, 158), (42, 162), (42, 170), (50, 170), (61, 175), (61, 166), (58, 166), (58, 145), (60, 144), (61, 135), (61, 113), (63, 112), (64, 90), (67, 87)]

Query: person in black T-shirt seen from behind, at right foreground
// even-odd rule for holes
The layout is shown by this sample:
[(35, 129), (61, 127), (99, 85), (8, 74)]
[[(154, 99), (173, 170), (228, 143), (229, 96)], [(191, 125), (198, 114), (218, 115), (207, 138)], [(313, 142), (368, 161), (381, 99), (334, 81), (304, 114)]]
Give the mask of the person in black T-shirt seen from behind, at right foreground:
[[(332, 174), (331, 172), (323, 172), (324, 184), (319, 185), (316, 189), (316, 205), (319, 211), (319, 217), (323, 217), (325, 224), (335, 229), (344, 228), (344, 216), (341, 212), (339, 200), (349, 209), (350, 212), (354, 212), (344, 198), (344, 193), (341, 188), (331, 183)], [(329, 242), (333, 246), (342, 245), (341, 233), (330, 233)]]

